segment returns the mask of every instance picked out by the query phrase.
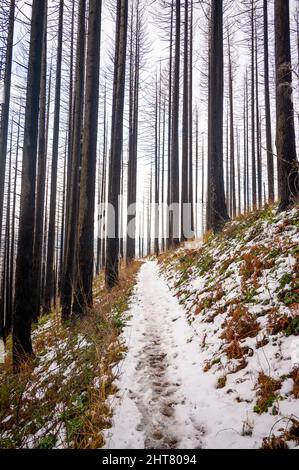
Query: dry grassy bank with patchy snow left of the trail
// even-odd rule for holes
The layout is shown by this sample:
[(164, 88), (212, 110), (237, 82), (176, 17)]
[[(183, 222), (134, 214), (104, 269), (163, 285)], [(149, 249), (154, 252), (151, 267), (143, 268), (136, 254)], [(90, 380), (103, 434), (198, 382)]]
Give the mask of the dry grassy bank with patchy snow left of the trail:
[(103, 445), (111, 415), (106, 398), (115, 393), (112, 367), (125, 350), (119, 334), (139, 266), (122, 267), (111, 291), (100, 276), (94, 309), (76, 324), (63, 325), (59, 313), (41, 318), (33, 332), (36, 357), (18, 375), (11, 372), (8, 354), (0, 370), (0, 448), (50, 448), (62, 429), (67, 447)]

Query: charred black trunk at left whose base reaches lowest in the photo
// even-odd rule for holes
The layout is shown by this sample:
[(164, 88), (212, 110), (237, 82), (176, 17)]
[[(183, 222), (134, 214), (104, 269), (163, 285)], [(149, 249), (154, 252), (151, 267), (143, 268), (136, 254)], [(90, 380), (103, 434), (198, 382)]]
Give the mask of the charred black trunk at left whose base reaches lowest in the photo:
[(33, 0), (13, 325), (13, 363), (16, 371), (19, 370), (20, 363), (28, 359), (33, 352), (31, 343), (31, 323), (34, 307), (32, 305), (33, 238), (38, 114), (45, 6), (44, 0)]

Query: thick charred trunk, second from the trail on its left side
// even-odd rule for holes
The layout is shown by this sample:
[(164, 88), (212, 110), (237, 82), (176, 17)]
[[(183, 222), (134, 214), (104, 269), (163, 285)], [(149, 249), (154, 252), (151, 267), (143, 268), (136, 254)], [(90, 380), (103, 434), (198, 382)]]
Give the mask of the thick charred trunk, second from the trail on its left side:
[(78, 276), (73, 310), (82, 315), (92, 307), (94, 260), (95, 174), (99, 102), (102, 1), (89, 0), (85, 115), (80, 179)]

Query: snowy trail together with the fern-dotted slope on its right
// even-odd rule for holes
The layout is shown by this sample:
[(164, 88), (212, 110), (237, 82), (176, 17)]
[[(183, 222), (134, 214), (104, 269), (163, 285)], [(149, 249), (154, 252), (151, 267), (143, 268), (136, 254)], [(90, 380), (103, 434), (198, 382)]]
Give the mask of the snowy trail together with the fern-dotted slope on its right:
[(299, 446), (299, 210), (147, 261), (106, 448)]

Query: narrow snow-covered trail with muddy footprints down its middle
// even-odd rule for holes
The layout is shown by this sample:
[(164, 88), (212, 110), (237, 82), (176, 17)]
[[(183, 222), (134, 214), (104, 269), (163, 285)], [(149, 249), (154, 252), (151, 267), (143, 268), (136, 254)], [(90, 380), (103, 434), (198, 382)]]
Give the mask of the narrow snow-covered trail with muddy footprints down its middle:
[(140, 270), (106, 448), (200, 448), (199, 345), (154, 261)]

